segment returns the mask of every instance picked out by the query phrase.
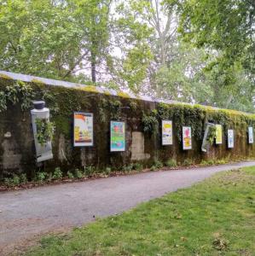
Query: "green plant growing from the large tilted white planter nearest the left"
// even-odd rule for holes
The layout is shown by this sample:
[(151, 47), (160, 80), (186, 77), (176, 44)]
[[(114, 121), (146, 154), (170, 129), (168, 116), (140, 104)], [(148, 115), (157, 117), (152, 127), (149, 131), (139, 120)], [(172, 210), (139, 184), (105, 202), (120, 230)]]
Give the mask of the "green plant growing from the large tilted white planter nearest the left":
[(55, 125), (49, 119), (36, 119), (36, 125), (38, 143), (43, 146), (52, 140)]

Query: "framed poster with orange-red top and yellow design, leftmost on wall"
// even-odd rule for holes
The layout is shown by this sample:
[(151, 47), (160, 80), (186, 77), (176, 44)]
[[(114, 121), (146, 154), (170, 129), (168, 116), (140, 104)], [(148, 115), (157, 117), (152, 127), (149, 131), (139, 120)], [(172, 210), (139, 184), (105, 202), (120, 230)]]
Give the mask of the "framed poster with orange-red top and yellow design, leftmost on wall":
[(93, 113), (73, 114), (73, 146), (93, 146)]

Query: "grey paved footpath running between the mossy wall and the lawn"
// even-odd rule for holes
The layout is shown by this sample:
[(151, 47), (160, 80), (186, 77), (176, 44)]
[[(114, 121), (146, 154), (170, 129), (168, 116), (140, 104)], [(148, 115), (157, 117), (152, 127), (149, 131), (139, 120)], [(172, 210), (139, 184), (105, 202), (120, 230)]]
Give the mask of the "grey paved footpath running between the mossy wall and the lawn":
[(0, 193), (0, 255), (54, 230), (123, 212), (142, 201), (188, 187), (213, 173), (255, 166), (255, 161), (188, 170), (144, 172), (82, 183)]

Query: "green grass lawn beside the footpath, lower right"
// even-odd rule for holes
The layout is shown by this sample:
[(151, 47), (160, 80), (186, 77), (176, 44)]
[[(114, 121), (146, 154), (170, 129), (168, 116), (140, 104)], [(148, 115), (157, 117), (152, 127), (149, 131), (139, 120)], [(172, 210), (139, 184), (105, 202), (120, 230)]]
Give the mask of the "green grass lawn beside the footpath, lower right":
[(255, 255), (255, 167), (47, 236), (28, 255)]

